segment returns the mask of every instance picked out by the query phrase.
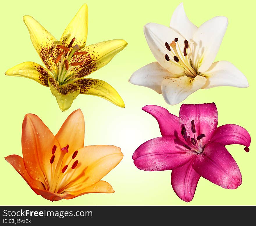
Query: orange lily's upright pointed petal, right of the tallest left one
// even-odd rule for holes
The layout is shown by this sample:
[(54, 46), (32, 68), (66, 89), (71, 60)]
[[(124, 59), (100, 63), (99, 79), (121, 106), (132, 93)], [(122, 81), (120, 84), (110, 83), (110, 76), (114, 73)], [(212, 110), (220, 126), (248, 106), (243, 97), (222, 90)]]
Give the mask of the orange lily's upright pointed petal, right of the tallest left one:
[(55, 137), (61, 147), (69, 145), (69, 152), (65, 156), (72, 155), (74, 151), (83, 147), (84, 117), (80, 109), (73, 111), (67, 117)]

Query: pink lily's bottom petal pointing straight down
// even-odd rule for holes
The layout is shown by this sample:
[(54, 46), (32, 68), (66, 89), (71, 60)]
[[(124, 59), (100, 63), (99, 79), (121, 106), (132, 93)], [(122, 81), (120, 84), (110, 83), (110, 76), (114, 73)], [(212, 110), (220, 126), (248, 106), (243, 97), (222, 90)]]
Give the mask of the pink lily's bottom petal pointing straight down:
[(191, 159), (182, 167), (172, 170), (171, 183), (173, 190), (185, 202), (190, 202), (193, 199), (200, 178), (200, 175), (192, 167), (194, 159)]

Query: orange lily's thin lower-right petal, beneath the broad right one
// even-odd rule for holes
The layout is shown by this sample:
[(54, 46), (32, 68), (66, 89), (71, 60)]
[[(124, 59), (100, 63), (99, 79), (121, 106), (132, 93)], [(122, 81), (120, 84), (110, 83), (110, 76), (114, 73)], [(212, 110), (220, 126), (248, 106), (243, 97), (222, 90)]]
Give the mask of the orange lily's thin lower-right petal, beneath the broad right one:
[[(82, 189), (82, 190), (72, 191), (72, 192), (67, 191), (68, 194), (76, 197), (85, 195), (88, 193), (114, 193), (114, 192), (115, 191), (113, 190), (112, 186), (104, 180), (100, 180), (96, 184), (90, 187), (86, 187), (85, 189)], [(71, 198), (65, 198), (65, 199), (71, 199)]]

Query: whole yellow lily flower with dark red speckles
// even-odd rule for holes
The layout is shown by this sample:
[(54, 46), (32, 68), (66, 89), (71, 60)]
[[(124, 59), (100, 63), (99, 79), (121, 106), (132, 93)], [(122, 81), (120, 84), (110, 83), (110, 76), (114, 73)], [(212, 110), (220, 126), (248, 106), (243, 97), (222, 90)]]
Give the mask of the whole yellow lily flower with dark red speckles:
[(86, 45), (88, 7), (84, 4), (63, 32), (60, 41), (55, 39), (31, 16), (24, 16), (31, 41), (45, 64), (24, 62), (6, 71), (5, 75), (20, 76), (49, 86), (62, 111), (70, 108), (79, 93), (102, 97), (113, 104), (125, 107), (118, 92), (108, 83), (85, 78), (102, 68), (127, 46), (123, 39), (114, 39)]

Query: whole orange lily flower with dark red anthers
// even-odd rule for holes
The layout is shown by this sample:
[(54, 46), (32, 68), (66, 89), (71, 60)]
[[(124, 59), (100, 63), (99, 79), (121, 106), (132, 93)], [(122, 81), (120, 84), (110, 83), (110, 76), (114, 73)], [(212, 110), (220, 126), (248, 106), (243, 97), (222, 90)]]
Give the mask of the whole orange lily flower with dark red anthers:
[(26, 114), (22, 124), (22, 154), (5, 159), (31, 189), (50, 201), (88, 193), (113, 193), (101, 180), (123, 158), (119, 147), (83, 147), (84, 118), (72, 112), (54, 136), (37, 115)]

